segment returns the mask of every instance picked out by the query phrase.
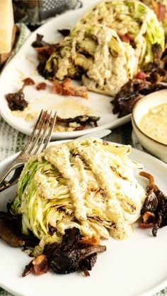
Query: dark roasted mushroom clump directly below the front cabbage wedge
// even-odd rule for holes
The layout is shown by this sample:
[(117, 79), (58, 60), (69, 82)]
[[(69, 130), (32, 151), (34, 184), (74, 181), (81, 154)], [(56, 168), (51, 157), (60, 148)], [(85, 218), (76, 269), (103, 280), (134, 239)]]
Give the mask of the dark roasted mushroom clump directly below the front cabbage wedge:
[(106, 250), (105, 246), (99, 244), (86, 245), (84, 241), (78, 244), (79, 237), (80, 232), (74, 227), (65, 231), (61, 247), (55, 243), (45, 247), (49, 266), (55, 273), (84, 271), (88, 276), (88, 271), (96, 262), (96, 253)]

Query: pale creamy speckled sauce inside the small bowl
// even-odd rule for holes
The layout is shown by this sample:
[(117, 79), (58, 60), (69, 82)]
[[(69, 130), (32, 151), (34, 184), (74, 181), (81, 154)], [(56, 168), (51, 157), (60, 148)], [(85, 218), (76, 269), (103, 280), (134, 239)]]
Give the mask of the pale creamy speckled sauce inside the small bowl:
[(167, 103), (149, 109), (139, 122), (144, 134), (167, 145)]

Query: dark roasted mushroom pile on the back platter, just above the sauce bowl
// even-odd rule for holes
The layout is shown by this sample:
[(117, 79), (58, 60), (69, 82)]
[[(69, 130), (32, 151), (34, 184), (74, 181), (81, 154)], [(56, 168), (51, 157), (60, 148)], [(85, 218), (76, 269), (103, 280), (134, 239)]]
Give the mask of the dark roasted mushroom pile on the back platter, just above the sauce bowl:
[(131, 113), (135, 102), (143, 95), (167, 88), (167, 85), (162, 84), (167, 82), (167, 51), (162, 52), (161, 46), (156, 43), (152, 45), (152, 54), (154, 60), (123, 85), (112, 101), (113, 113), (118, 113), (118, 117)]

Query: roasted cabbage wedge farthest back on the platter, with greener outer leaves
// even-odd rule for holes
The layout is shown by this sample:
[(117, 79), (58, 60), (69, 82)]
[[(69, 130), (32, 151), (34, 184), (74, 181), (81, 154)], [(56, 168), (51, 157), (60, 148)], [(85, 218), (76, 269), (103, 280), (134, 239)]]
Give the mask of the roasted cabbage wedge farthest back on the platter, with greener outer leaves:
[(113, 28), (122, 39), (129, 36), (139, 66), (153, 60), (151, 45), (158, 43), (164, 49), (164, 30), (156, 13), (137, 0), (102, 1), (82, 17), (79, 23), (101, 23)]

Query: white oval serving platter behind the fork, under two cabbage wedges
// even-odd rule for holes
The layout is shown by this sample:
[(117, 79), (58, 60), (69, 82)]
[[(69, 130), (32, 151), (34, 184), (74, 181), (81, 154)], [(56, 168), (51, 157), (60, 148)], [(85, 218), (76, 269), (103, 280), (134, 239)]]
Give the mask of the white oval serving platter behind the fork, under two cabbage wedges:
[[(90, 1), (89, 6), (93, 2), (96, 1)], [(21, 117), (13, 116), (11, 110), (8, 108), (5, 95), (19, 90), (21, 85), (23, 85), (22, 81), (24, 78), (33, 78), (35, 83), (45, 81), (36, 70), (38, 66), (37, 54), (31, 46), (36, 38), (36, 34), (44, 35), (44, 40), (47, 42), (59, 42), (62, 36), (57, 32), (57, 29), (72, 28), (87, 9), (88, 6), (76, 11), (68, 11), (42, 25), (28, 37), (16, 56), (13, 57), (8, 65), (6, 65), (4, 71), (2, 71), (0, 78), (0, 113), (6, 122), (18, 131), (24, 134), (30, 134), (35, 121), (27, 122)], [(100, 121), (98, 122), (98, 127), (93, 128), (93, 130), (115, 128), (130, 120), (130, 115), (118, 119), (117, 114), (113, 114), (113, 105), (110, 103), (113, 98), (106, 95), (89, 92), (89, 100), (85, 100), (82, 97), (63, 97), (51, 94), (50, 90), (35, 90), (34, 85), (25, 88), (24, 93), (25, 100), (28, 100), (31, 105), (30, 113), (37, 112), (38, 114), (40, 109), (43, 108), (47, 110), (57, 109), (58, 115), (65, 118), (81, 114), (99, 116)], [(52, 139), (74, 138), (91, 131), (92, 128), (84, 131), (54, 133)]]

